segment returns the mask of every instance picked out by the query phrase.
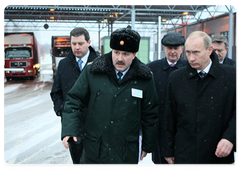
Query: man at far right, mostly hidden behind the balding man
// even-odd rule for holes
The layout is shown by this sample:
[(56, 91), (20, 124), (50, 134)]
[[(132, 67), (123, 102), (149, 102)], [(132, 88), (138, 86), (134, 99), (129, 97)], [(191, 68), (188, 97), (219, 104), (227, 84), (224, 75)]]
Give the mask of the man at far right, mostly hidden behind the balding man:
[(227, 65), (232, 65), (232, 66), (235, 66), (235, 67), (237, 66), (236, 61), (227, 57), (228, 41), (224, 36), (215, 35), (212, 38), (212, 46), (213, 46), (213, 50), (218, 55), (218, 59), (219, 59), (220, 64), (227, 64)]

